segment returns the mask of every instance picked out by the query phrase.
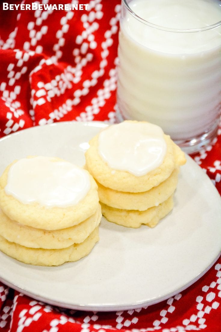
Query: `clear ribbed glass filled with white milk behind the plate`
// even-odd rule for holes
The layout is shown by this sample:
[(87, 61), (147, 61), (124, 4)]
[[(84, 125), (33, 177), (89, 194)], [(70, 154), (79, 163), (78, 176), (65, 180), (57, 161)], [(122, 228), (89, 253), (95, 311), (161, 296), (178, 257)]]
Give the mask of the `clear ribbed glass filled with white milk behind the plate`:
[(118, 120), (161, 126), (193, 153), (217, 134), (221, 1), (122, 0)]

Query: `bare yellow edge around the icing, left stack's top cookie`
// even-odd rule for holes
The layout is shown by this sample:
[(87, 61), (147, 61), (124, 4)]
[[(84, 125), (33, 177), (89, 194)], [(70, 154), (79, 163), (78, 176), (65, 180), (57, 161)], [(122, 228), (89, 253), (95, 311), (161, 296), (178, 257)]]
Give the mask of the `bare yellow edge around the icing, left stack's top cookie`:
[[(58, 161), (61, 159), (57, 158)], [(13, 165), (14, 161), (11, 165)], [(77, 225), (95, 213), (99, 202), (97, 184), (90, 177), (90, 189), (87, 195), (75, 206), (44, 207), (38, 203), (23, 204), (13, 196), (6, 195), (9, 165), (0, 177), (0, 207), (11, 219), (20, 224), (46, 230), (62, 229)]]

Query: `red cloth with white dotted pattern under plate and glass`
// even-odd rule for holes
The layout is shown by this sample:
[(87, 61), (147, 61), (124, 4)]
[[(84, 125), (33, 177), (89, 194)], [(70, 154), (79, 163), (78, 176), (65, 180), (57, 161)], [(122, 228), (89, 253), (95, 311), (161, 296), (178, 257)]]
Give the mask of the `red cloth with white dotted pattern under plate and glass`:
[[(88, 11), (0, 12), (0, 136), (56, 121), (115, 121), (120, 0), (88, 3)], [(194, 159), (221, 194), (221, 129), (214, 145)], [(11, 332), (218, 332), (221, 259), (181, 294), (129, 311), (63, 310), (0, 284), (0, 328)]]

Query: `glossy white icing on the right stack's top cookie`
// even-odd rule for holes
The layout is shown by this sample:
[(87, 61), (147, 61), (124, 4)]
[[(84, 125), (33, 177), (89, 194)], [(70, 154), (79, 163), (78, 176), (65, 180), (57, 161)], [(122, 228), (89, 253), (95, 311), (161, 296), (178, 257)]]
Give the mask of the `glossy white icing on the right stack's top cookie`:
[(166, 150), (163, 130), (155, 124), (114, 124), (103, 129), (98, 138), (98, 152), (108, 166), (135, 176), (159, 167)]

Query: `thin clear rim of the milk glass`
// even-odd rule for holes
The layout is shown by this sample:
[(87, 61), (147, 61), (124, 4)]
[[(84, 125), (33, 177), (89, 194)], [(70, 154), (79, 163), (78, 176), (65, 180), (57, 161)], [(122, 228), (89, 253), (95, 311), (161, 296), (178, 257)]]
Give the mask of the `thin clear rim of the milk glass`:
[(140, 21), (141, 23), (148, 25), (152, 28), (156, 28), (159, 30), (164, 30), (164, 31), (170, 31), (170, 32), (181, 32), (181, 33), (190, 33), (190, 32), (199, 32), (199, 31), (205, 31), (205, 30), (210, 30), (210, 29), (214, 29), (217, 28), (219, 26), (221, 26), (221, 21), (208, 25), (206, 27), (202, 27), (202, 28), (197, 28), (197, 29), (174, 29), (174, 28), (167, 28), (167, 27), (163, 27), (151, 22), (148, 22), (144, 19), (142, 19), (140, 16), (138, 16), (129, 6), (128, 4), (128, 0), (122, 0), (122, 3), (125, 5), (125, 8), (128, 10), (128, 12), (138, 21)]

